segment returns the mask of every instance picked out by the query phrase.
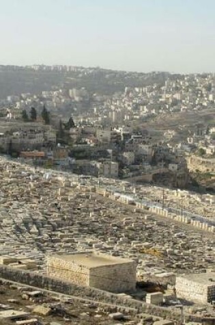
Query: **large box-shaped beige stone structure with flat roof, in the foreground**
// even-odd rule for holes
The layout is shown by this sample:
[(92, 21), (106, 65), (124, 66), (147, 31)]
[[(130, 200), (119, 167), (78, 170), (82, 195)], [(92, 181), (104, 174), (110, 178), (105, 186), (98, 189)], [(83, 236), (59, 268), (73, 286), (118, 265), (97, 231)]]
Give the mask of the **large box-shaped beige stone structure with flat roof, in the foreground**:
[(63, 278), (76, 285), (96, 287), (111, 292), (130, 292), (136, 288), (137, 263), (98, 252), (50, 255), (49, 276)]

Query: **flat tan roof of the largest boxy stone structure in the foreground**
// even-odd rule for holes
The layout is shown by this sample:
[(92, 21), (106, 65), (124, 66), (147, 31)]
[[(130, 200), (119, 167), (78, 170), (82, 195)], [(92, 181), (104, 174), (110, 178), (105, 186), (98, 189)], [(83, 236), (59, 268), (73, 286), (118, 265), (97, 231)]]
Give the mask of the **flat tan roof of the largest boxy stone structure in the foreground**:
[(57, 259), (74, 262), (78, 265), (84, 265), (86, 268), (96, 268), (104, 265), (117, 265), (124, 263), (135, 263), (131, 259), (122, 259), (112, 257), (111, 255), (97, 254), (95, 252), (81, 252), (70, 255), (51, 255)]

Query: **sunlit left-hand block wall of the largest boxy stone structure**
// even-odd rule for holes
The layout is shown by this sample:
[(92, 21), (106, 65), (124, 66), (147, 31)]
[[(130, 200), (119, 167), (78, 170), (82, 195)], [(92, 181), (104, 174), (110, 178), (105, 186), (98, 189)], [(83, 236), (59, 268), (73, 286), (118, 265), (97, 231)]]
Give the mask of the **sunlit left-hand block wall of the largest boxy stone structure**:
[(89, 269), (60, 257), (47, 258), (47, 272), (49, 276), (63, 278), (76, 285), (89, 286)]

